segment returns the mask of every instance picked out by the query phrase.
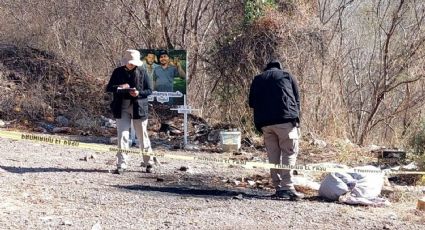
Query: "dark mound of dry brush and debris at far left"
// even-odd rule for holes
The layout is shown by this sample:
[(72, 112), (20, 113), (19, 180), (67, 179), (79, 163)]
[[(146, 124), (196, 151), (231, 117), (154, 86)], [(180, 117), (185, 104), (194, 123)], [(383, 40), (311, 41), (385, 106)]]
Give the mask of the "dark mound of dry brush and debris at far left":
[(0, 44), (0, 119), (16, 120), (16, 126), (67, 133), (71, 129), (62, 127), (96, 129), (107, 108), (104, 84), (54, 54)]

